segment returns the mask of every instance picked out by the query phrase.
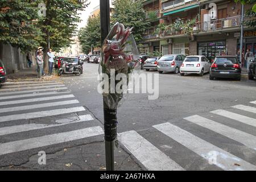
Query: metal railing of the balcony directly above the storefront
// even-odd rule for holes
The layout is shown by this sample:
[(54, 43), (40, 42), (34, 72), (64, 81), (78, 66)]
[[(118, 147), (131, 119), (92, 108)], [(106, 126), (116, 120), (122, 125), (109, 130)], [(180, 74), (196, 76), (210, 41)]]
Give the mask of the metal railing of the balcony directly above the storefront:
[(221, 30), (224, 28), (240, 27), (240, 25), (241, 25), (241, 16), (233, 16), (230, 18), (210, 20), (209, 22), (203, 22), (201, 24), (201, 27), (199, 27), (199, 30), (214, 31), (214, 30)]

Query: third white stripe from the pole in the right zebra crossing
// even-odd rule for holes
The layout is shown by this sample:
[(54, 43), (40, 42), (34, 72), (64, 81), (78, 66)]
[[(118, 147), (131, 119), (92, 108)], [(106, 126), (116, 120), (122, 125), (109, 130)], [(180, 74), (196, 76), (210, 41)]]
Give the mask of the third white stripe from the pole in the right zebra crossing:
[(224, 135), (225, 137), (236, 140), (237, 142), (240, 142), (245, 146), (256, 150), (256, 137), (254, 135), (250, 135), (243, 131), (233, 129), (232, 127), (222, 125), (221, 123), (217, 123), (210, 119), (200, 117), (199, 115), (193, 115), (184, 119), (199, 126), (205, 127), (209, 130), (215, 131), (216, 133)]

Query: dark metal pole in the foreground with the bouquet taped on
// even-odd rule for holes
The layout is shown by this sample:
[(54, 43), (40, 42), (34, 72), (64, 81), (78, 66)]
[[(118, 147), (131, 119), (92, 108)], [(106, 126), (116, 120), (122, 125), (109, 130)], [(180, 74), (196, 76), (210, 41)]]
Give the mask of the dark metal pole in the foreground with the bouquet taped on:
[[(109, 0), (100, 0), (100, 16), (101, 16), (101, 44), (109, 34), (110, 24), (110, 6)], [(104, 104), (104, 110), (107, 109)], [(114, 140), (106, 140), (106, 130), (108, 125), (106, 123), (106, 113), (104, 111), (104, 123), (105, 123), (105, 155), (106, 155), (106, 170), (114, 171)]]

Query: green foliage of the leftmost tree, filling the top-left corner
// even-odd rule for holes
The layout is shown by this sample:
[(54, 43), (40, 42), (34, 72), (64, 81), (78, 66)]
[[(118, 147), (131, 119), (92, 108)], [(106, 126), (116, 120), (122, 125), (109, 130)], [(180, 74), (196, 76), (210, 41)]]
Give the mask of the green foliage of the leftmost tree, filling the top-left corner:
[(42, 31), (38, 28), (38, 1), (1, 0), (0, 41), (20, 47), (22, 51), (39, 46)]

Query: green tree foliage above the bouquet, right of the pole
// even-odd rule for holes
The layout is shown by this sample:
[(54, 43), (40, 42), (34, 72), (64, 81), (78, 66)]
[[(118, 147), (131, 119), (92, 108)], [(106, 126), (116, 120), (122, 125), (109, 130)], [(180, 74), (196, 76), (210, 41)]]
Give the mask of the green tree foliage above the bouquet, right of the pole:
[(119, 22), (124, 24), (125, 27), (134, 27), (134, 39), (137, 44), (141, 42), (143, 40), (143, 33), (150, 25), (150, 22), (146, 22), (142, 1), (115, 0), (114, 6), (111, 24)]

